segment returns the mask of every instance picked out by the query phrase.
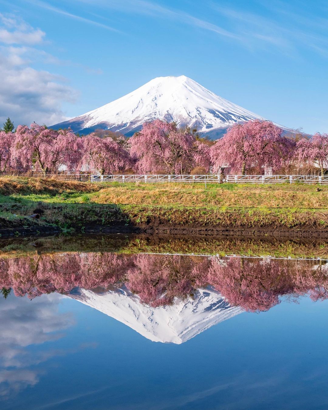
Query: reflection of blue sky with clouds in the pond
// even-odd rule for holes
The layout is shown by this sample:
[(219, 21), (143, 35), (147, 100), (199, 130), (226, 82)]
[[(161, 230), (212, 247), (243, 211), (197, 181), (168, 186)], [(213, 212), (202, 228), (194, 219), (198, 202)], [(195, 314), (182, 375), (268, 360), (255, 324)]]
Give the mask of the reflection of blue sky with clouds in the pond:
[(282, 302), (174, 345), (59, 295), (9, 296), (0, 408), (326, 409), (327, 308)]

